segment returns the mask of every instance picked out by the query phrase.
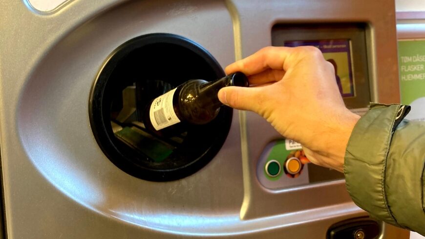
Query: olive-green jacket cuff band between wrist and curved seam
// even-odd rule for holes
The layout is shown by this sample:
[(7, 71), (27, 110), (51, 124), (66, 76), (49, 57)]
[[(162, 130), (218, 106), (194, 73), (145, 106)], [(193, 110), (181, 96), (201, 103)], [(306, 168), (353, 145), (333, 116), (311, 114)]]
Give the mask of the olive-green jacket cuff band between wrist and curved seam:
[(396, 226), (385, 194), (385, 164), (392, 133), (409, 110), (399, 104), (371, 104), (354, 127), (345, 151), (345, 182), (353, 201), (373, 217)]

